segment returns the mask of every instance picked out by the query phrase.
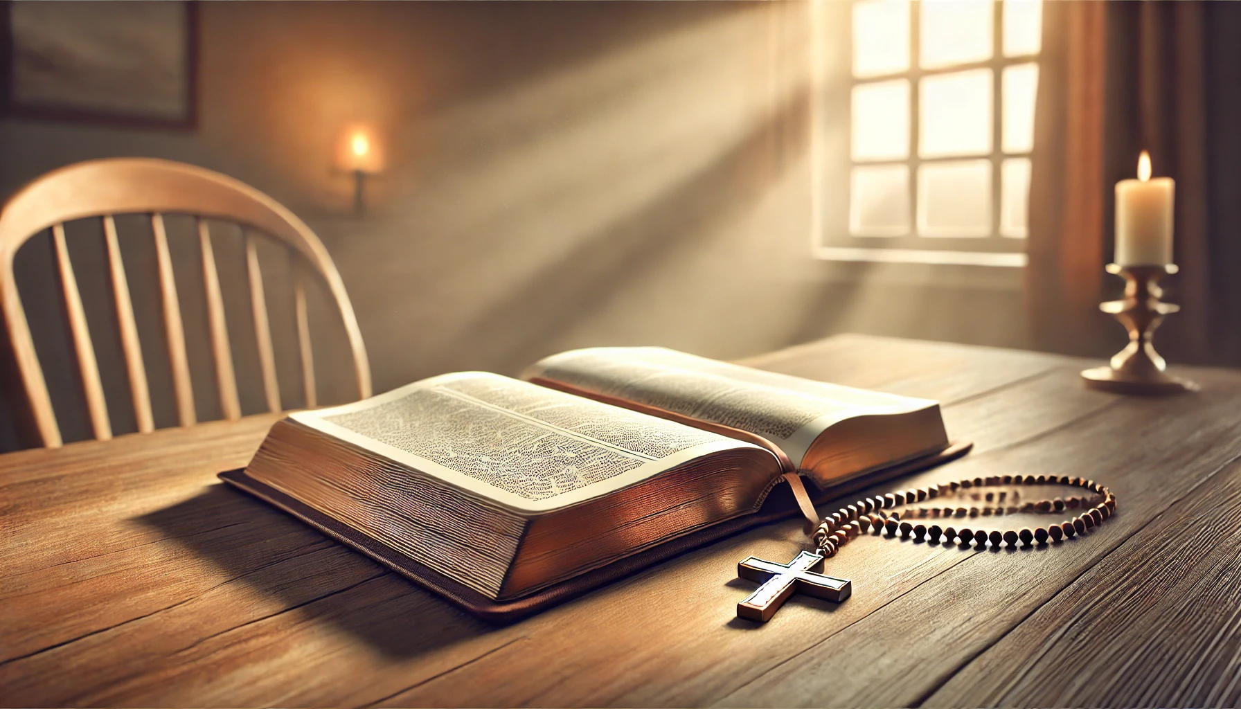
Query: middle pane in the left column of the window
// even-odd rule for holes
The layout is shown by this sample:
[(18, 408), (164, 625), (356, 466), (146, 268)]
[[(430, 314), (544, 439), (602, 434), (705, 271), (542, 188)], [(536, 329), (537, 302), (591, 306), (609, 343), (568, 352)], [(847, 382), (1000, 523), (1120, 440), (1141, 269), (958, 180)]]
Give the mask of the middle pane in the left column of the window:
[(910, 156), (910, 82), (862, 83), (853, 89), (854, 160)]

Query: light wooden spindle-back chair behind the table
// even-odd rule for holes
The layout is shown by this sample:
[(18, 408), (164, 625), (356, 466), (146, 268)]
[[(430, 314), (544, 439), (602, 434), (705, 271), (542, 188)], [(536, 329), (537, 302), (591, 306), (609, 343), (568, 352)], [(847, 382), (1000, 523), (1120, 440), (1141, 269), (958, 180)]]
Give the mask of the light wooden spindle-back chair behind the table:
[[(268, 409), (280, 411), (280, 396), (262, 271), (254, 247), (256, 231), (285, 243), (305, 262), (309, 262), (326, 282), (328, 291), (340, 310), (340, 318), (349, 339), (357, 394), (364, 399), (371, 395), (370, 365), (366, 360), (361, 333), (357, 329), (357, 320), (354, 317), (354, 308), (331, 257), (302, 220), (258, 190), (194, 165), (144, 158), (91, 160), (53, 170), (38, 178), (14, 195), (5, 204), (4, 211), (0, 211), (0, 309), (4, 312), (17, 371), (43, 446), (60, 446), (61, 431), (52, 411), (43, 370), (35, 354), (26, 313), (14, 281), (14, 257), (27, 240), (48, 228), (52, 230), (56, 263), (65, 294), (73, 349), (81, 370), (91, 427), (98, 440), (112, 437), (112, 425), (108, 420), (94, 348), (65, 243), (65, 222), (81, 219), (102, 219), (103, 221), (117, 322), (120, 328), (120, 344), (138, 431), (145, 433), (154, 430), (146, 370), (139, 346), (125, 269), (120, 260), (117, 225), (113, 219), (113, 215), (122, 214), (150, 215), (168, 354), (172, 371), (172, 389), (181, 426), (194, 425), (196, 412), (190, 385), (190, 368), (186, 360), (185, 332), (164, 226), (165, 214), (186, 214), (196, 217), (216, 384), (221, 411), (226, 418), (240, 418), (241, 409), (207, 219), (233, 222), (244, 230), (251, 307)], [(305, 406), (313, 407), (316, 406), (314, 360), (310, 348), (307, 297), (300, 277), (295, 281), (294, 303)]]

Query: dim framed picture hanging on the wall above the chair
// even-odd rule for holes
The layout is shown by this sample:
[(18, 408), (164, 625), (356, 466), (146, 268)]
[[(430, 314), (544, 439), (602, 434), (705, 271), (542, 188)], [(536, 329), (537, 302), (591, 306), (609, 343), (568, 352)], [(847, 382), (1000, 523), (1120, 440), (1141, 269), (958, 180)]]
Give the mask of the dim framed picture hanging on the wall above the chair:
[(192, 128), (194, 2), (0, 2), (9, 114)]

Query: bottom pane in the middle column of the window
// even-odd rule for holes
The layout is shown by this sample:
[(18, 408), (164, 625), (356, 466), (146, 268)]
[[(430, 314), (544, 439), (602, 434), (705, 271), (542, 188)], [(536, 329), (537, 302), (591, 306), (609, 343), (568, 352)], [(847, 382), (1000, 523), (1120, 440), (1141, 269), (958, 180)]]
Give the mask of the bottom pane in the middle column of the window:
[(992, 163), (956, 160), (918, 166), (918, 235), (990, 236)]

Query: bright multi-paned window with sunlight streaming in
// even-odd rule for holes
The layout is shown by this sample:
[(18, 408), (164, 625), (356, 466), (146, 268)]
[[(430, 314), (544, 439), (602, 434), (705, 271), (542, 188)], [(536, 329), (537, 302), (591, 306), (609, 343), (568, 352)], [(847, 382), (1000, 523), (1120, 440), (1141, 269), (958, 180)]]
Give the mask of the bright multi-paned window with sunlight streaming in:
[(818, 5), (815, 255), (1024, 266), (1040, 0)]

